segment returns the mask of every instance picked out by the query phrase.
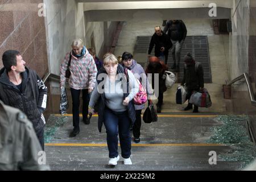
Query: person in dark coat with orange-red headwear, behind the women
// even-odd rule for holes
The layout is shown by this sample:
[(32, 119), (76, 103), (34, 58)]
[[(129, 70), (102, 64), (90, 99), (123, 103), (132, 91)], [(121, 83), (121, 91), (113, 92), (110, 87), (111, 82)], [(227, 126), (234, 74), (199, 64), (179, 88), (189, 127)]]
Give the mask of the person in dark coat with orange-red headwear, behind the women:
[[(149, 63), (147, 65), (145, 73), (152, 74), (152, 88), (155, 90), (157, 88), (156, 84), (159, 84), (159, 95), (158, 95), (158, 103), (156, 104), (156, 111), (161, 113), (162, 105), (163, 105), (163, 93), (166, 92), (167, 87), (165, 84), (165, 80), (163, 79), (164, 71), (167, 71), (168, 67), (163, 63), (158, 57), (152, 56), (149, 59)], [(154, 82), (155, 74), (159, 74), (158, 83)], [(156, 90), (155, 90), (155, 93)]]

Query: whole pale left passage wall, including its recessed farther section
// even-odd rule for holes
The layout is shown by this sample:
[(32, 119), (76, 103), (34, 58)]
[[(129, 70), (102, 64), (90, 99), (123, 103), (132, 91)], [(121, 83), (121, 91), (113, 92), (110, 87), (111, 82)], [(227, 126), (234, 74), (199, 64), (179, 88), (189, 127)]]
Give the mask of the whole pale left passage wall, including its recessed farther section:
[[(104, 40), (112, 22), (88, 22), (84, 16), (83, 3), (75, 0), (45, 0), (47, 15), (47, 43), (49, 71), (59, 75), (61, 61), (65, 53), (71, 51), (73, 39), (81, 38), (87, 48), (96, 48), (96, 53), (102, 54)], [(116, 24), (114, 22), (114, 24)], [(52, 86), (57, 86), (53, 83)]]

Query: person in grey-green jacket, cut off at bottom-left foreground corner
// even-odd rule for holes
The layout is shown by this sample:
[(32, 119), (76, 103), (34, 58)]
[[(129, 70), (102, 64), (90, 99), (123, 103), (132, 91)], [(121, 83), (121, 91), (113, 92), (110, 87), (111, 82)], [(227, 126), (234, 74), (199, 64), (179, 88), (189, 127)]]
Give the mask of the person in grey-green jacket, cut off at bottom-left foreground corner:
[(0, 101), (0, 171), (49, 170), (43, 154), (26, 115)]

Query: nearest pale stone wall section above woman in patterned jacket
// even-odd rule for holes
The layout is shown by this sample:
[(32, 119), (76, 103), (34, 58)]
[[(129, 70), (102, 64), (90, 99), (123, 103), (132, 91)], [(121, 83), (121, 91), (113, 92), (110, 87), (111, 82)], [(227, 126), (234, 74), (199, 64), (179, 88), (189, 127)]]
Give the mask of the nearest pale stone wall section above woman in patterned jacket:
[(45, 0), (49, 71), (59, 75), (65, 53), (73, 39), (86, 42), (83, 7), (75, 0)]

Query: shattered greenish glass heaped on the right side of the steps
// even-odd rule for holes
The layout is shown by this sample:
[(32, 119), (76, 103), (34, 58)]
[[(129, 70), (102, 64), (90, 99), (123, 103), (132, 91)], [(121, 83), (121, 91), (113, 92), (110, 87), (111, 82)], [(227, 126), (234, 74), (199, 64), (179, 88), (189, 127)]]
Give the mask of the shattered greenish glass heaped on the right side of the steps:
[(207, 142), (232, 146), (232, 152), (221, 154), (219, 157), (225, 161), (242, 162), (241, 167), (245, 167), (256, 158), (256, 146), (250, 141), (245, 127), (245, 122), (249, 117), (247, 115), (221, 115), (216, 119), (223, 125), (211, 129), (213, 136)]

